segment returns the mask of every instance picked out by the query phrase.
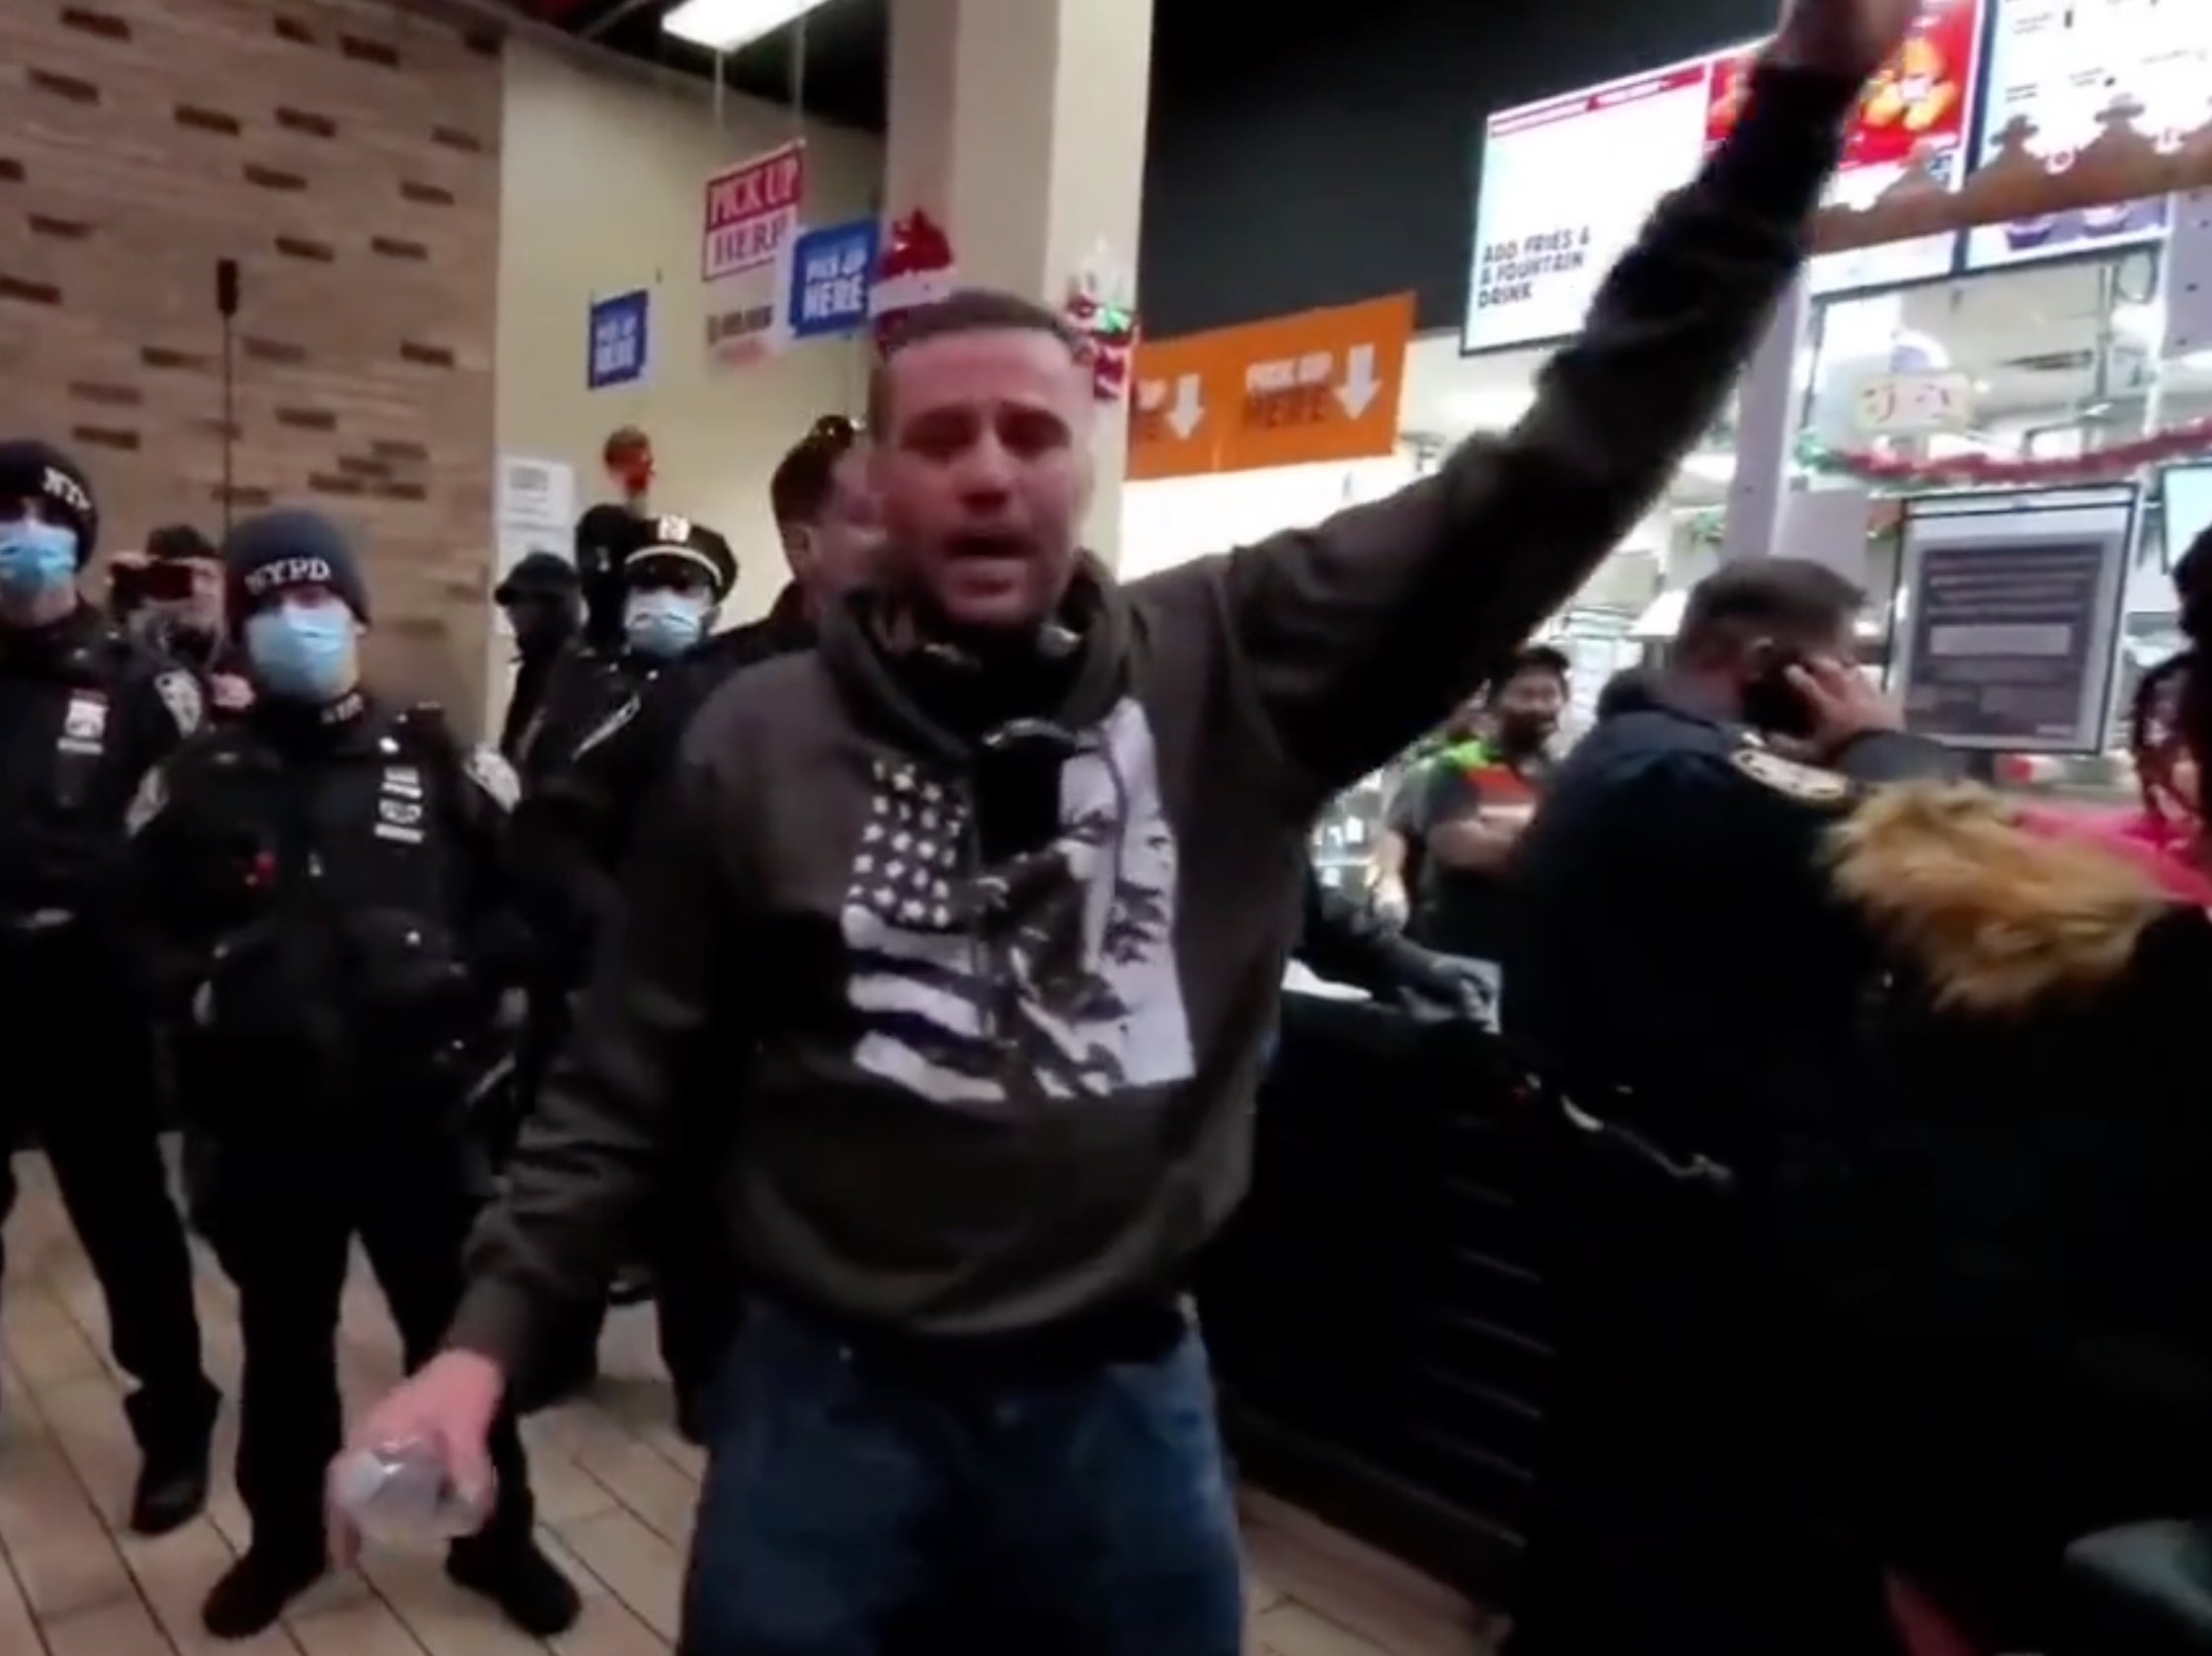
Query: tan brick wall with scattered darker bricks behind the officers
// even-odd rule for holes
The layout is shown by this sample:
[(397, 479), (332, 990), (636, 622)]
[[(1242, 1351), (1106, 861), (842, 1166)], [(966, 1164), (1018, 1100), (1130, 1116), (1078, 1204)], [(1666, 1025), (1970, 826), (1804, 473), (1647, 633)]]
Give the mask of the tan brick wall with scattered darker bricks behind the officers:
[[(104, 542), (230, 504), (356, 528), (372, 668), (482, 708), (500, 46), (372, 0), (0, 0), (0, 425)], [(566, 345), (568, 340), (562, 340)]]

